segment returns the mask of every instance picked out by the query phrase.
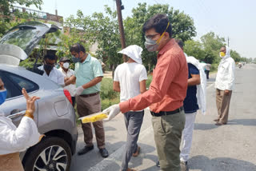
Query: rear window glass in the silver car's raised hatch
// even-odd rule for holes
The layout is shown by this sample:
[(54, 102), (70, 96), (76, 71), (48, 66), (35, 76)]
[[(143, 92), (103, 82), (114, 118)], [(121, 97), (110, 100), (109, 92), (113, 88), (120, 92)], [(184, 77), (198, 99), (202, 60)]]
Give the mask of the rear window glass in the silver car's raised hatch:
[(24, 23), (10, 30), (1, 40), (0, 44), (11, 44), (19, 46), (30, 55), (34, 46), (40, 41), (42, 35), (45, 34), (49, 28), (41, 23)]

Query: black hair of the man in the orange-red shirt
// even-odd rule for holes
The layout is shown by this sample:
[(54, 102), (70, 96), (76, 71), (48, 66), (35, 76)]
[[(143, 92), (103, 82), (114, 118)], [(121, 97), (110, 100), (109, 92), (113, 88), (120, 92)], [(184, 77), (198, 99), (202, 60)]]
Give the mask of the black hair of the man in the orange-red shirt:
[[(145, 34), (146, 30), (150, 30), (154, 28), (154, 30), (158, 34), (162, 34), (165, 30), (169, 33), (169, 37), (171, 38), (172, 35), (172, 27), (171, 24), (168, 26), (169, 19), (165, 14), (155, 14), (152, 18), (148, 19), (143, 27), (142, 31)], [(166, 27), (168, 28), (166, 29)]]

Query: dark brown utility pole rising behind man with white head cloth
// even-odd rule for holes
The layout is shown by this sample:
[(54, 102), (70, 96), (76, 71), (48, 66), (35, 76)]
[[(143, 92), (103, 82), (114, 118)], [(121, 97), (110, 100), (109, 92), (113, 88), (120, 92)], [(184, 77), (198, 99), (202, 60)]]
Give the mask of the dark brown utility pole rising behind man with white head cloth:
[[(118, 24), (119, 24), (119, 32), (120, 32), (120, 39), (121, 39), (121, 45), (122, 49), (126, 48), (126, 38), (125, 38), (125, 32), (123, 30), (123, 25), (122, 25), (122, 10), (124, 7), (122, 6), (121, 0), (116, 0), (117, 3), (117, 11), (118, 11)], [(123, 62), (127, 61), (126, 55), (122, 55), (122, 60)]]

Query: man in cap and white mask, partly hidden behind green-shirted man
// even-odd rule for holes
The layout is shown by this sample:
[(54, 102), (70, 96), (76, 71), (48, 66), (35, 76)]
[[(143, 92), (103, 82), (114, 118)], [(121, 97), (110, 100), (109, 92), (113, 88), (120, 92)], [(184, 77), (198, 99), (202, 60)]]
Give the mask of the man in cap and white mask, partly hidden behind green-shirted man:
[[(64, 80), (68, 80), (71, 76), (74, 75), (74, 70), (71, 70), (69, 68), (70, 67), (70, 59), (69, 58), (62, 57), (59, 60), (59, 65), (60, 65), (60, 68), (58, 70), (60, 70), (62, 72), (62, 75), (65, 77)], [(74, 83), (64, 87), (64, 89), (67, 89), (70, 92), (73, 107), (75, 105), (75, 97), (74, 97), (75, 88), (76, 87), (75, 87)]]

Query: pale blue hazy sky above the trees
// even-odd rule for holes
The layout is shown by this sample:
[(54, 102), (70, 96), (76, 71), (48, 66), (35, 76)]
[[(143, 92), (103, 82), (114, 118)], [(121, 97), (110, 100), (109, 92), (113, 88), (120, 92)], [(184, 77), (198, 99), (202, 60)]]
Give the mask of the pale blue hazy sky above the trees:
[[(42, 11), (68, 18), (76, 16), (77, 10), (91, 15), (104, 12), (104, 5), (116, 9), (114, 0), (43, 0)], [(184, 11), (194, 19), (199, 40), (204, 34), (213, 31), (223, 38), (230, 38), (230, 48), (242, 57), (256, 58), (256, 1), (255, 0), (122, 0), (125, 9), (122, 18), (132, 15), (132, 9), (139, 2), (147, 5), (169, 4), (174, 10)], [(30, 6), (31, 9), (36, 9)]]

